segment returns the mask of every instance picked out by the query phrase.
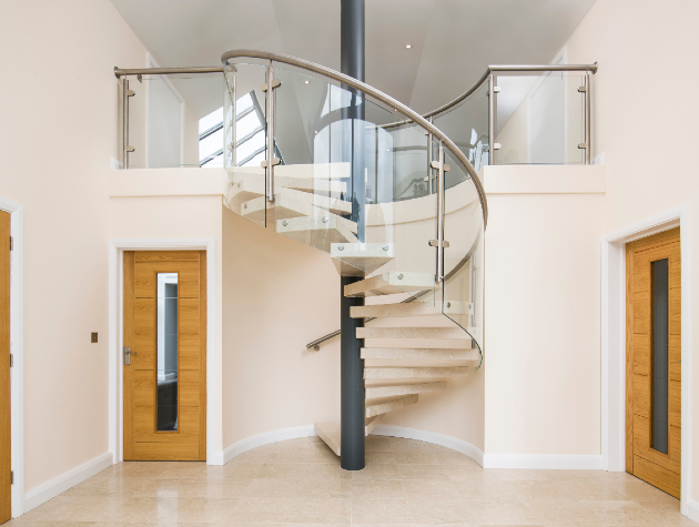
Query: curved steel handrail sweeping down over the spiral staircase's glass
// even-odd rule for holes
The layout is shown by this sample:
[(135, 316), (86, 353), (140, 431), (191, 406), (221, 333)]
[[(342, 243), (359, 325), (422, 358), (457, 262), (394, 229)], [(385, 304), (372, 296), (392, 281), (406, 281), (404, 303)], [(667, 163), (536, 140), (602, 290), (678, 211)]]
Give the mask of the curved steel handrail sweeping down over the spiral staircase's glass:
[(331, 68), (316, 64), (315, 62), (298, 59), (296, 57), (291, 57), (291, 55), (286, 55), (282, 53), (273, 53), (271, 51), (260, 51), (260, 50), (232, 50), (232, 51), (226, 51), (225, 53), (221, 55), (221, 62), (223, 62), (224, 65), (227, 65), (227, 62), (231, 59), (262, 59), (262, 60), (282, 62), (285, 64), (293, 65), (295, 68), (301, 68), (302, 70), (308, 70), (314, 73), (328, 77), (335, 81), (338, 81), (343, 84), (348, 85), (350, 88), (354, 88), (355, 90), (359, 90), (366, 93), (367, 95), (371, 95), (372, 98), (376, 99), (377, 101), (381, 101), (384, 104), (393, 108), (394, 110), (399, 111), (404, 115), (407, 115), (411, 119), (411, 121), (421, 125), (423, 129), (432, 133), (434, 138), (442, 141), (442, 144), (446, 146), (452, 152), (452, 154), (454, 154), (454, 156), (464, 165), (464, 168), (468, 172), (468, 175), (470, 176), (470, 181), (474, 183), (474, 185), (476, 186), (476, 191), (478, 192), (478, 200), (480, 201), (480, 207), (483, 210), (484, 229), (485, 226), (487, 226), (488, 202), (486, 199), (485, 189), (483, 188), (483, 184), (480, 183), (480, 180), (478, 179), (478, 173), (476, 172), (474, 166), (470, 164), (470, 162), (468, 161), (468, 158), (466, 158), (464, 152), (462, 152), (460, 149), (456, 144), (454, 144), (454, 142), (446, 134), (439, 131), (437, 126), (435, 126), (429, 121), (424, 119), (416, 111), (411, 110), (408, 107), (406, 107), (402, 102), (396, 101), (394, 98), (385, 94), (384, 92), (377, 90), (376, 88), (365, 84), (362, 81), (357, 81), (356, 79), (350, 75), (332, 70)]

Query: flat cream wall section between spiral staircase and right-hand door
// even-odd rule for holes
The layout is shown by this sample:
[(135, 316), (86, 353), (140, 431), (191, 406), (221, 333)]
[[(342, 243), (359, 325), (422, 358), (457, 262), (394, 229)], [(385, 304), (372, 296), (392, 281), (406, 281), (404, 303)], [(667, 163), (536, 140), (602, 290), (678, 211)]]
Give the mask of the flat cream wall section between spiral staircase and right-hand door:
[[(600, 454), (604, 186), (586, 193), (585, 181), (596, 171), (485, 169), (486, 454)], [(551, 174), (570, 180), (569, 189), (547, 193)], [(540, 193), (496, 184), (517, 175)]]

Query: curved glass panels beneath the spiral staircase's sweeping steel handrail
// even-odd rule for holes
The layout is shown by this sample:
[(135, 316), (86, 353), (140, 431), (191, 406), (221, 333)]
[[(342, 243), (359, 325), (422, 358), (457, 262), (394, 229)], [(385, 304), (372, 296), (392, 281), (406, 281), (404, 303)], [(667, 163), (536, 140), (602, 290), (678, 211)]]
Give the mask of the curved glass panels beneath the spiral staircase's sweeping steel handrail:
[[(465, 166), (445, 149), (449, 247), (444, 250), (445, 280), (437, 282), (437, 170), (432, 162), (438, 143), (421, 125), (363, 93), (292, 68), (274, 65), (273, 74), (280, 84), (269, 93), (255, 88), (266, 81), (266, 68), (236, 64), (226, 72), (229, 91), (235, 93), (231, 108), (224, 108), (232, 209), (328, 254), (343, 276), (372, 277), (372, 287), (357, 296), (399, 295), (393, 301), (426, 303), (479, 346), (483, 210)], [(241, 90), (243, 79), (247, 88)], [(488, 161), (486, 92), (477, 90), (435, 119), (478, 168)], [(274, 98), (278, 159), (273, 201), (265, 194), (266, 170), (251, 161), (256, 150), (245, 144), (263, 134), (256, 155), (269, 159), (266, 97)], [(253, 119), (256, 114), (265, 119), (264, 130)]]

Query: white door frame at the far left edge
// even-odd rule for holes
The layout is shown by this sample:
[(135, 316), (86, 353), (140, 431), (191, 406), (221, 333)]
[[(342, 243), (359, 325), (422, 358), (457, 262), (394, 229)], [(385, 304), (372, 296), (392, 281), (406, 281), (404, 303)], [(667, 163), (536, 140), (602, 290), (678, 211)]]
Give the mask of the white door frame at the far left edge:
[(24, 206), (0, 197), (0, 210), (10, 213), (12, 276), (10, 282), (10, 341), (14, 364), (10, 373), (12, 518), (24, 514)]

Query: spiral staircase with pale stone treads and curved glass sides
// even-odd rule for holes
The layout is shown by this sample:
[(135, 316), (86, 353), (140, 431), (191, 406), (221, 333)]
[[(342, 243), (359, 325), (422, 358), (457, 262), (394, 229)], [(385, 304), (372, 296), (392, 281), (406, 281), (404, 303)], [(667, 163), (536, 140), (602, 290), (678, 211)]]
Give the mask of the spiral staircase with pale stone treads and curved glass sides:
[[(473, 163), (477, 154), (476, 164), (485, 159), (487, 123), (469, 119), (472, 99), (426, 120), (301, 59), (246, 50), (222, 61), (229, 206), (326, 253), (341, 276), (356, 277), (344, 286), (346, 297), (379, 297), (351, 308), (355, 320), (379, 321), (355, 330), (364, 339), (368, 435), (388, 412), (447, 389), (449, 377), (483, 362), (487, 204)], [(241, 125), (250, 111), (236, 109), (241, 87), (264, 100), (257, 111), (266, 121), (266, 151), (254, 163)], [(310, 347), (318, 349), (321, 341)], [(315, 429), (340, 456), (340, 423)]]

